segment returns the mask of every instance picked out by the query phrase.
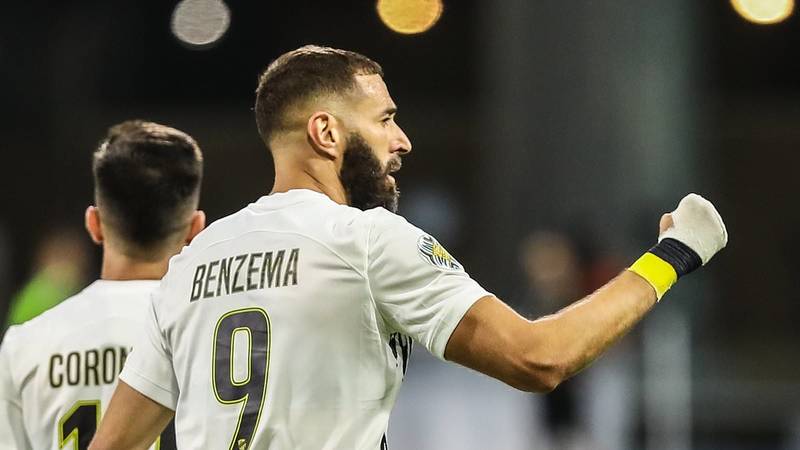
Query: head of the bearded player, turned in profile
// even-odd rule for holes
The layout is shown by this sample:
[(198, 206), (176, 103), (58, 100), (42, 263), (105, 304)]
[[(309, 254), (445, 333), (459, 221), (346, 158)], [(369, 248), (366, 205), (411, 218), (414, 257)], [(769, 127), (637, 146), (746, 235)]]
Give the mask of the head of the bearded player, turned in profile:
[(389, 173), (411, 143), (395, 123), (397, 108), (380, 65), (355, 52), (305, 46), (280, 56), (261, 75), (256, 122), (277, 161), (291, 142), (332, 163), (348, 203), (397, 208)]

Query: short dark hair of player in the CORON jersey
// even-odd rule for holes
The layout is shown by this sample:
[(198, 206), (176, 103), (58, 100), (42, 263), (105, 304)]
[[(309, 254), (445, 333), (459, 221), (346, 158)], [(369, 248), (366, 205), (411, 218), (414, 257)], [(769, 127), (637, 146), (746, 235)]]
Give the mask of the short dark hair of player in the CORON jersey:
[(131, 120), (111, 127), (94, 152), (95, 200), (130, 256), (155, 253), (197, 208), (203, 155), (188, 134)]

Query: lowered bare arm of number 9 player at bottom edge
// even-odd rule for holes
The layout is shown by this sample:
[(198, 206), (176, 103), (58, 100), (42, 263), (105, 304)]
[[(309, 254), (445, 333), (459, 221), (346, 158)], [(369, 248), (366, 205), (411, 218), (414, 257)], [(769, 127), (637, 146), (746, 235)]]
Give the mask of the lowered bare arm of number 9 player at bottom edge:
[(174, 415), (120, 380), (89, 450), (146, 450)]

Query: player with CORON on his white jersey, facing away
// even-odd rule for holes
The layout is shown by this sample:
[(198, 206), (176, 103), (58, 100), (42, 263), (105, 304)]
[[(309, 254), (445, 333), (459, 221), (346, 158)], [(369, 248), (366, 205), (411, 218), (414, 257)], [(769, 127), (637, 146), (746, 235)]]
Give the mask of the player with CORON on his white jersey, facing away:
[[(101, 278), (6, 332), (0, 449), (89, 446), (169, 257), (205, 224), (197, 211), (202, 155), (181, 131), (141, 121), (114, 126), (94, 153), (93, 173), (96, 206), (85, 219), (103, 246)], [(159, 447), (175, 448), (174, 433)]]

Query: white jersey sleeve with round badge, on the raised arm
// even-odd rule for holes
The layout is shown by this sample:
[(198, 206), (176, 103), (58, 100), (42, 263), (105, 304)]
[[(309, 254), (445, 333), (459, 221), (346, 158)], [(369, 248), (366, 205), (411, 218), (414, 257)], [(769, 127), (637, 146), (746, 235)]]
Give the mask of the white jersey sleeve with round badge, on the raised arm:
[(461, 318), (475, 301), (491, 294), (432, 236), (400, 216), (377, 211), (367, 250), (373, 301), (395, 331), (444, 359)]

